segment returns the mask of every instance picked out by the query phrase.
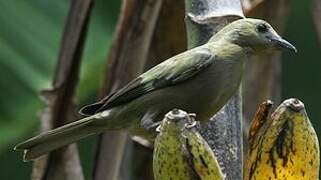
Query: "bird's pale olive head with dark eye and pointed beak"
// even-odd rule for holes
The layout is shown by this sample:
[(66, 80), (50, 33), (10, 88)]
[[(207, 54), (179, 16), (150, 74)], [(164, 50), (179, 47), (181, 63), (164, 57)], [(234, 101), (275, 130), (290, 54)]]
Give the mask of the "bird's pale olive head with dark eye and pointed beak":
[(225, 26), (212, 39), (217, 38), (225, 38), (254, 51), (279, 49), (297, 52), (296, 48), (278, 35), (269, 23), (260, 19), (244, 18), (234, 21)]

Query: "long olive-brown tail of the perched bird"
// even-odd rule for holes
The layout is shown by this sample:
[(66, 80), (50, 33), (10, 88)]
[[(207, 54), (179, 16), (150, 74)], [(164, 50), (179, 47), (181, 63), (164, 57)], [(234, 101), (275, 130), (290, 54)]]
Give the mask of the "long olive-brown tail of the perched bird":
[(87, 117), (41, 133), (18, 144), (14, 149), (24, 151), (24, 161), (33, 160), (57, 148), (97, 133), (97, 127), (93, 126), (94, 120), (96, 119), (93, 117)]

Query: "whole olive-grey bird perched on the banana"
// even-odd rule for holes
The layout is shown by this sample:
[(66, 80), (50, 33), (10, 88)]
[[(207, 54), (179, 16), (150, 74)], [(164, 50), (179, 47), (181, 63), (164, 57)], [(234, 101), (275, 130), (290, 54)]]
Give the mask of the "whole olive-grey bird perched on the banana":
[(297, 52), (264, 20), (236, 20), (198, 47), (156, 65), (80, 113), (87, 117), (43, 132), (15, 146), (32, 160), (88, 135), (127, 131), (148, 140), (164, 115), (180, 108), (206, 123), (237, 91), (250, 55)]

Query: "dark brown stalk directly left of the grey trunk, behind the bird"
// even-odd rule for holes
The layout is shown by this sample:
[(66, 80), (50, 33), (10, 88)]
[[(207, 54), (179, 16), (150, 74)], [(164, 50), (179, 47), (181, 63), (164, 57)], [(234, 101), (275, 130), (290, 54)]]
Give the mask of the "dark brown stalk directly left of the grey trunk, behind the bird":
[[(186, 31), (184, 22), (184, 1), (163, 0), (159, 18), (148, 51), (145, 70), (186, 50)], [(133, 147), (132, 177), (153, 179), (153, 150), (138, 143)]]

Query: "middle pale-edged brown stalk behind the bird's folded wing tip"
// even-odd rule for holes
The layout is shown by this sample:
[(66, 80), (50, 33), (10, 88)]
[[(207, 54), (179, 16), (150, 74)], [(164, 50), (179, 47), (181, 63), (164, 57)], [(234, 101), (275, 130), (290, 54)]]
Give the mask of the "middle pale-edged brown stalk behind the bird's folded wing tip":
[[(101, 96), (143, 72), (161, 4), (155, 0), (123, 1)], [(126, 142), (124, 133), (107, 132), (99, 137), (93, 179), (119, 179)]]

